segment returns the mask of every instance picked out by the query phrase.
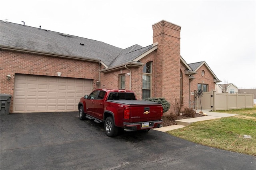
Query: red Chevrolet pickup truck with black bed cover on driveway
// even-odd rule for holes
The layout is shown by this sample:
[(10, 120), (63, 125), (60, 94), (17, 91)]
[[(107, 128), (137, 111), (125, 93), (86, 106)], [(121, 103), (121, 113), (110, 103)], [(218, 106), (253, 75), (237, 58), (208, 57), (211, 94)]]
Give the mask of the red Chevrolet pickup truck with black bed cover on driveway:
[(85, 95), (78, 103), (81, 120), (94, 119), (104, 123), (108, 136), (116, 136), (119, 128), (126, 131), (162, 127), (161, 103), (136, 100), (133, 91), (96, 89)]

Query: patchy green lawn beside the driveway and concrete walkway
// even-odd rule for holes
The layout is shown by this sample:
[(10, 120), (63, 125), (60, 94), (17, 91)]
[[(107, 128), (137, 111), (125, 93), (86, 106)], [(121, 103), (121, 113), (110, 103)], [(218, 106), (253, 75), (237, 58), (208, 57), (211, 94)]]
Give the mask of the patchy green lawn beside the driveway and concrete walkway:
[[(256, 156), (256, 107), (218, 112), (238, 115), (196, 122), (168, 133), (206, 146)], [(251, 138), (244, 138), (245, 134)]]

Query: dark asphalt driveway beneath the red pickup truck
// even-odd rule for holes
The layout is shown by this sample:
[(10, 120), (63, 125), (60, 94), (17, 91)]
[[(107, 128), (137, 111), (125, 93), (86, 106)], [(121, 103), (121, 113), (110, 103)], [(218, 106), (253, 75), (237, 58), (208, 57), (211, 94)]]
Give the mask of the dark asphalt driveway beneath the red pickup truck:
[(122, 132), (106, 136), (103, 124), (78, 112), (10, 114), (1, 119), (1, 170), (256, 169), (256, 157), (171, 136)]

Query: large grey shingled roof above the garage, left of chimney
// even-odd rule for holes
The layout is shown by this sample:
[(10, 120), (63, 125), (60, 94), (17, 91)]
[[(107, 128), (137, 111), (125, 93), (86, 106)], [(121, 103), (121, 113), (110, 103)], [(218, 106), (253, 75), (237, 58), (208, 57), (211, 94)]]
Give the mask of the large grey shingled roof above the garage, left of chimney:
[(93, 59), (102, 61), (108, 67), (132, 61), (132, 59), (152, 48), (152, 45), (148, 47), (133, 45), (122, 49), (104, 42), (42, 28), (0, 22), (1, 47), (16, 47), (43, 53), (69, 55), (81, 59)]

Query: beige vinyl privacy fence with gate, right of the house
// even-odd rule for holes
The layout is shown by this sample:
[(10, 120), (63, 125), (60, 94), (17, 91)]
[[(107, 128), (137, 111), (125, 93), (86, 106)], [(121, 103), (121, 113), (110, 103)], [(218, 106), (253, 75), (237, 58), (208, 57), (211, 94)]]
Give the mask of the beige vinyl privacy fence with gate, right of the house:
[[(198, 109), (200, 101), (197, 99)], [(247, 93), (216, 93), (216, 91), (203, 92), (201, 97), (202, 109), (212, 111), (253, 108), (253, 94)]]

